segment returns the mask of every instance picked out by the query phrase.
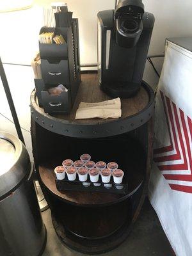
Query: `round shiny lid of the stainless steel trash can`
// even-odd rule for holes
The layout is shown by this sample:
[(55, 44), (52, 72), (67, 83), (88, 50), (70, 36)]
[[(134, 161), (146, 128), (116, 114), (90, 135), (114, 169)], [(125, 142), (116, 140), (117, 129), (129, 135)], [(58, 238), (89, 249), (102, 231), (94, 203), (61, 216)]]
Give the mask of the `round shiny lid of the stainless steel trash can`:
[(0, 131), (0, 200), (15, 191), (30, 170), (29, 154), (23, 143)]

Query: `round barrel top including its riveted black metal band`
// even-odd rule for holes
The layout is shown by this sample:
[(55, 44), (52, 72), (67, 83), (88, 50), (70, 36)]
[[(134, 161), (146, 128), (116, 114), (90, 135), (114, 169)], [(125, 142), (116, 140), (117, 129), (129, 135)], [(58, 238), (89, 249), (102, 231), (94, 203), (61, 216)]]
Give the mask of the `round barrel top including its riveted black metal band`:
[[(150, 119), (150, 115), (152, 115), (154, 106), (154, 92), (150, 86), (148, 86), (146, 83), (142, 83), (142, 86), (140, 88), (140, 91), (132, 98), (130, 99), (121, 99), (122, 103), (122, 116), (120, 118), (108, 118), (108, 119), (102, 119), (102, 118), (92, 118), (92, 119), (83, 119), (83, 120), (76, 120), (76, 111), (79, 107), (80, 102), (102, 102), (104, 100), (112, 99), (109, 97), (106, 93), (102, 92), (100, 90), (99, 81), (97, 74), (82, 74), (81, 75), (81, 84), (79, 86), (79, 92), (77, 93), (76, 101), (74, 103), (74, 106), (69, 114), (66, 115), (49, 115), (44, 112), (43, 108), (40, 108), (38, 106), (38, 100), (36, 98), (35, 91), (31, 94), (31, 113), (33, 114), (32, 117), (35, 119), (36, 122), (38, 122), (40, 125), (42, 123), (44, 124), (46, 122), (46, 119), (49, 121), (49, 126), (54, 127), (52, 131), (58, 132), (62, 134), (62, 132), (59, 131), (59, 129), (64, 130), (65, 128), (70, 128), (72, 125), (75, 125), (76, 127), (79, 127), (79, 131), (77, 133), (79, 134), (81, 132), (81, 128), (83, 129), (85, 126), (93, 127), (93, 132), (97, 134), (97, 127), (102, 127), (106, 131), (108, 131), (111, 127), (111, 125), (114, 126), (114, 131), (109, 132), (109, 135), (103, 134), (103, 136), (113, 136), (116, 134), (121, 134), (123, 132), (131, 131), (132, 129), (136, 129), (137, 127), (141, 126), (138, 122), (138, 120), (135, 118), (135, 116), (138, 115), (138, 118), (140, 118), (141, 122), (143, 120), (143, 124), (145, 122), (148, 122)], [(151, 108), (152, 107), (152, 108)], [(146, 110), (146, 111), (145, 111)], [(148, 111), (148, 112), (147, 112)], [(144, 113), (144, 116), (142, 115)], [(132, 117), (134, 120), (131, 120)], [(132, 127), (128, 127), (127, 120), (129, 120)], [(52, 123), (51, 123), (52, 122)], [(66, 127), (56, 127), (58, 124), (60, 125), (66, 125)], [(126, 124), (125, 124), (126, 123)], [(103, 125), (103, 126), (102, 126)], [(115, 127), (115, 125), (118, 125), (118, 128)], [(127, 131), (120, 131), (120, 127), (122, 125), (125, 125), (125, 129)], [(46, 129), (50, 129), (50, 127), (46, 127)], [(72, 128), (73, 129), (73, 128)], [(96, 130), (95, 130), (96, 129)], [(96, 132), (95, 132), (96, 131)], [(84, 137), (92, 137), (90, 134), (86, 134), (86, 131), (83, 131)], [(90, 130), (89, 130), (90, 132)], [(99, 133), (99, 132), (98, 132)], [(116, 133), (116, 134), (115, 134)], [(74, 136), (74, 131), (68, 132), (66, 134), (67, 136)], [(81, 137), (81, 135), (80, 135)], [(99, 137), (99, 135), (96, 137)]]

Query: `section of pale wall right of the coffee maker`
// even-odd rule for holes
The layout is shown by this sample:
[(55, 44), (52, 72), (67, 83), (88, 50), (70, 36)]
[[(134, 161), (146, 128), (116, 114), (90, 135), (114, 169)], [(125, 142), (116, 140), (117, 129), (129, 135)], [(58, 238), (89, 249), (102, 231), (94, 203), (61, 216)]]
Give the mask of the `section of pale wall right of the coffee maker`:
[[(156, 23), (148, 54), (163, 54), (164, 42), (168, 37), (192, 36), (192, 1), (191, 0), (143, 0), (145, 10), (152, 12)], [(163, 65), (163, 58), (154, 60), (159, 72)], [(144, 79), (150, 85), (157, 84), (157, 76), (147, 63)]]

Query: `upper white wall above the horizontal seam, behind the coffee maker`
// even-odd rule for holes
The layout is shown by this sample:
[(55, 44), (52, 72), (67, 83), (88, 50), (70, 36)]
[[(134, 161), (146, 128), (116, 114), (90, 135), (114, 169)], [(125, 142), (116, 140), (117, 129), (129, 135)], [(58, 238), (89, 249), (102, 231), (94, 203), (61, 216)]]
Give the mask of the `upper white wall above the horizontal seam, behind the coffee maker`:
[[(4, 61), (30, 63), (34, 52), (38, 51), (38, 31), (43, 24), (40, 6), (50, 6), (51, 2), (35, 0), (35, 8), (0, 14), (0, 54)], [(81, 63), (96, 63), (97, 12), (113, 8), (115, 0), (68, 0), (67, 3), (69, 10), (74, 12), (74, 17), (79, 18)], [(143, 0), (143, 3), (145, 10), (154, 13), (156, 17), (150, 55), (164, 52), (166, 37), (192, 35), (191, 0)], [(161, 70), (163, 60), (155, 60), (155, 63), (158, 70)], [(145, 79), (156, 84), (156, 75), (150, 73), (149, 79), (148, 71), (147, 67)]]

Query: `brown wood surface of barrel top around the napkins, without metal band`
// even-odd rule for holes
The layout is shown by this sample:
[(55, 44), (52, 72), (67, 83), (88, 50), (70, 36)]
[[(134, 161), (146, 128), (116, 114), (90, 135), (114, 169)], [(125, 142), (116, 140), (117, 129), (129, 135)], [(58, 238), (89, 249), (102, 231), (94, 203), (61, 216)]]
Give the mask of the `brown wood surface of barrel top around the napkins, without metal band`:
[[(104, 100), (112, 99), (106, 93), (100, 90), (97, 74), (83, 74), (81, 75), (81, 85), (76, 97), (74, 108), (69, 115), (58, 115), (56, 117), (68, 120), (69, 122), (76, 122), (77, 124), (103, 124), (116, 120), (116, 118), (92, 118), (76, 120), (76, 111), (81, 101), (83, 102), (102, 102)], [(122, 102), (122, 119), (131, 115), (135, 115), (142, 111), (148, 104), (148, 93), (141, 87), (140, 92), (131, 99), (121, 99)]]

